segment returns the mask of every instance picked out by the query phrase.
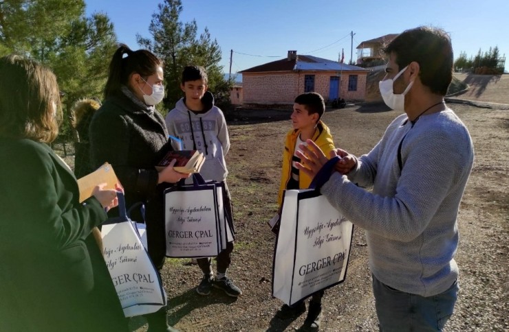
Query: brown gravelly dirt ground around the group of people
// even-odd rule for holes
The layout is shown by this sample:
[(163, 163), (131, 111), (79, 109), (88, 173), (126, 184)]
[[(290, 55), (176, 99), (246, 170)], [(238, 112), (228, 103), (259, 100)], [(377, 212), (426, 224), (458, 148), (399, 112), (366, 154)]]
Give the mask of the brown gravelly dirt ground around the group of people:
[[(509, 111), (450, 104), (466, 123), (475, 145), (475, 165), (459, 210), (459, 299), (444, 331), (509, 331)], [(324, 121), (336, 146), (368, 152), (398, 112), (385, 106), (329, 110)], [(279, 320), (281, 301), (271, 296), (274, 235), (266, 222), (277, 209), (281, 151), (290, 128), (288, 111), (241, 111), (228, 126), (230, 175), (237, 242), (228, 275), (243, 290), (230, 298), (214, 289), (195, 292), (202, 276), (188, 259), (167, 259), (162, 272), (169, 295), (169, 322), (182, 331), (292, 331)], [(444, 156), (446, 157), (446, 156)], [(364, 231), (355, 228), (345, 283), (327, 290), (321, 331), (378, 331)], [(143, 318), (131, 319), (145, 331)]]

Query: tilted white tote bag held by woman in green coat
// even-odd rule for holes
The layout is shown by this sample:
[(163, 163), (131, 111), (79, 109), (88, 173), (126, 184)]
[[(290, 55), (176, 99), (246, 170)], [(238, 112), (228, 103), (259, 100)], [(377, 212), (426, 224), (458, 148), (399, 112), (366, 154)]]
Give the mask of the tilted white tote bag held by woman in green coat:
[(120, 217), (102, 225), (102, 254), (124, 315), (153, 313), (166, 305), (160, 276), (144, 248), (136, 223), (127, 217), (122, 193), (118, 193), (118, 210)]

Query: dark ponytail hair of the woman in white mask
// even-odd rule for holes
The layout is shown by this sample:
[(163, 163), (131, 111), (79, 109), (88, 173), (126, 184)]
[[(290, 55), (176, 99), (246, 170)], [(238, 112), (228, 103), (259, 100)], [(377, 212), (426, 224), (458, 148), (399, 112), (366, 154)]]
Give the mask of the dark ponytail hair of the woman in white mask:
[(147, 79), (153, 75), (162, 60), (147, 49), (131, 50), (127, 45), (120, 44), (109, 62), (108, 80), (105, 86), (105, 98), (120, 93), (122, 85), (129, 87), (131, 74), (138, 73)]

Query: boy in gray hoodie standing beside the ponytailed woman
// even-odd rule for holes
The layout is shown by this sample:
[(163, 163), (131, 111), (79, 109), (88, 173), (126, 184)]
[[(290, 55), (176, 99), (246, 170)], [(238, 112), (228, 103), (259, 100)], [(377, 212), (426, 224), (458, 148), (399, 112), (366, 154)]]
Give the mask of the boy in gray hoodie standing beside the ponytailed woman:
[[(230, 138), (223, 112), (214, 106), (214, 97), (207, 91), (207, 74), (203, 67), (188, 66), (182, 72), (180, 88), (185, 97), (180, 99), (175, 108), (166, 115), (166, 127), (171, 136), (182, 141), (182, 147), (174, 146), (177, 150), (198, 150), (205, 156), (205, 162), (200, 174), (205, 180), (215, 180), (224, 184), (223, 199), (226, 214), (233, 222), (230, 191), (226, 185), (226, 161), (224, 156), (230, 149)], [(231, 226), (233, 226), (231, 224)], [(210, 258), (197, 259), (204, 277), (196, 287), (200, 295), (208, 295), (212, 287), (224, 290), (229, 296), (237, 297), (242, 294), (226, 276), (226, 269), (230, 265), (233, 242), (229, 242), (226, 249), (217, 255), (217, 275), (213, 278)]]

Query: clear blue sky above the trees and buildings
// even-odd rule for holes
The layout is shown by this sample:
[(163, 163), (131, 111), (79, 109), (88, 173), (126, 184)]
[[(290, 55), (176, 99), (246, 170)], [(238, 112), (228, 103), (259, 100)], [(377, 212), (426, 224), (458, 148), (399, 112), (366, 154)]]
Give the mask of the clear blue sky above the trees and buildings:
[[(87, 14), (104, 12), (118, 40), (138, 49), (136, 34), (150, 37), (152, 14), (162, 0), (85, 0)], [(362, 3), (362, 5), (360, 5)], [(442, 27), (451, 34), (455, 56), (498, 46), (509, 58), (508, 0), (183, 0), (182, 22), (196, 20), (198, 32), (208, 27), (217, 39), (228, 73), (285, 58), (288, 50), (337, 60), (344, 49), (353, 58), (363, 40), (398, 34), (419, 25)], [(506, 61), (506, 69), (509, 59)]]

